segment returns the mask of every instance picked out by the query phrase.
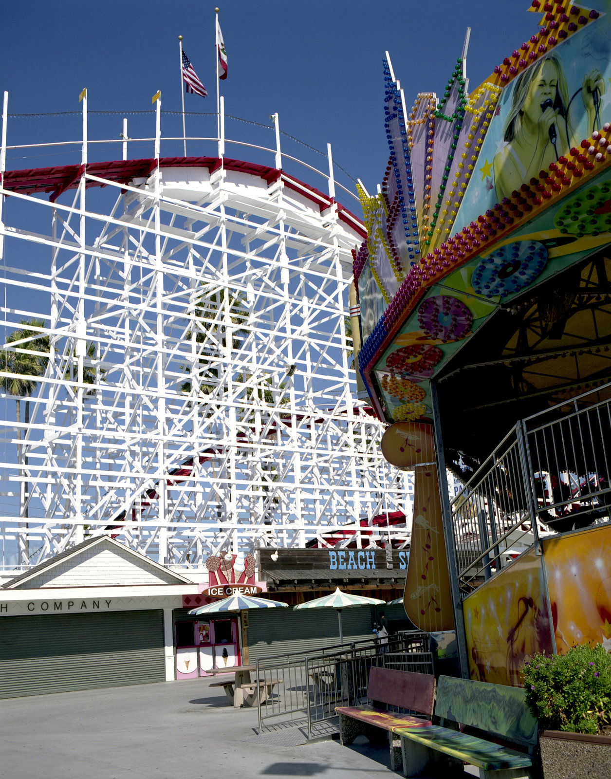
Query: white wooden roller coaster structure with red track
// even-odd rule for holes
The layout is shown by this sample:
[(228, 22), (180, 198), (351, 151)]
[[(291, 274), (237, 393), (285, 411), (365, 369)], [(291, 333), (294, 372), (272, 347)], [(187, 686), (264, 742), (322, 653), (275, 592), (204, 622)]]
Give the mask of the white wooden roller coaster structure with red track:
[(183, 139), (161, 137), (155, 109), (144, 158), (128, 159), (124, 126), (123, 158), (98, 161), (113, 142), (88, 140), (85, 95), (83, 139), (41, 144), (73, 164), (7, 171), (5, 94), (2, 324), (27, 332), (5, 344), (2, 379), (34, 379), (25, 419), (2, 404), (5, 550), (18, 542), (26, 568), (110, 533), (197, 567), (349, 526), (359, 547), (407, 544), (405, 522), (356, 532), (404, 510), (408, 481), (356, 399), (346, 327), (365, 231), (335, 199), (330, 149), (329, 174), (302, 168), (326, 192), (283, 169), (298, 160), (277, 115), (274, 149), (240, 146), (269, 164), (226, 156), (222, 113), (219, 137), (184, 141), (209, 156), (167, 157)]

